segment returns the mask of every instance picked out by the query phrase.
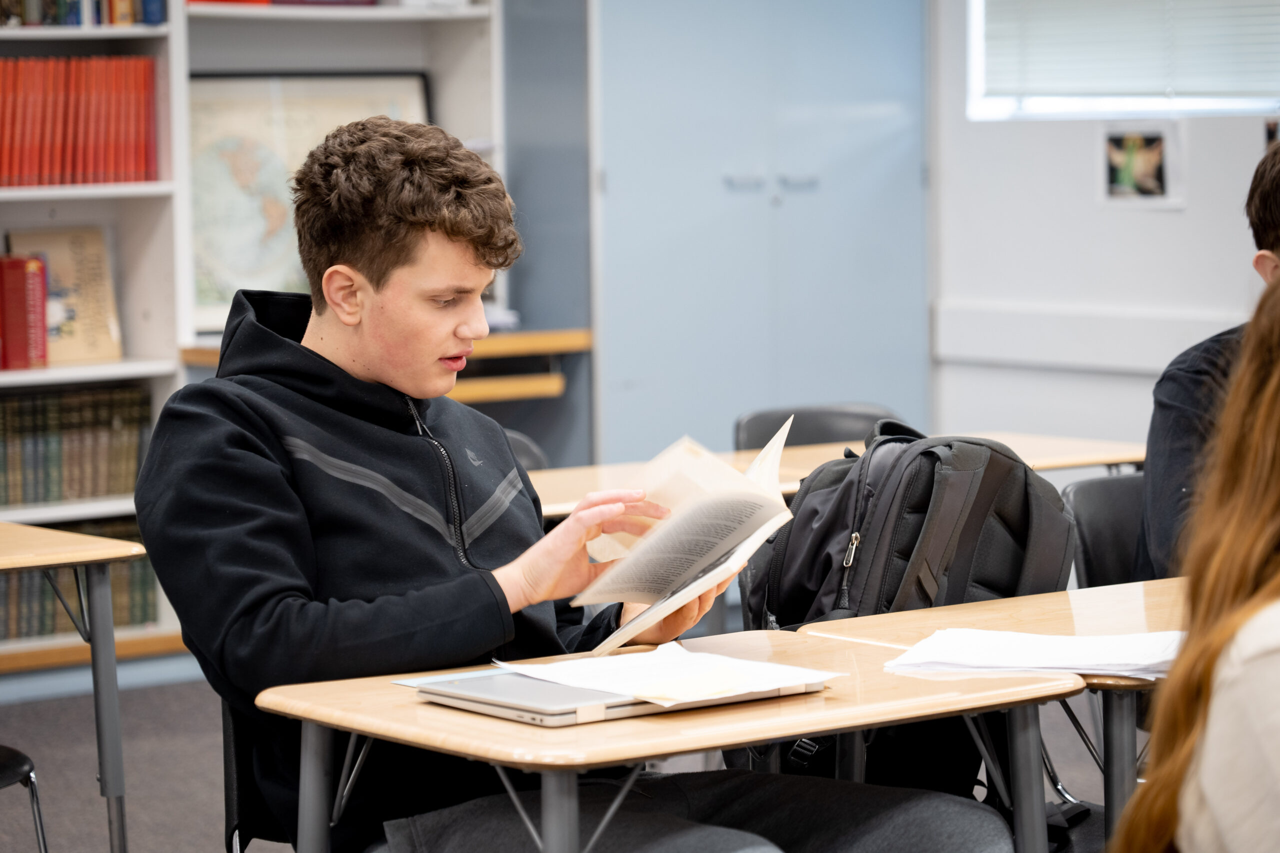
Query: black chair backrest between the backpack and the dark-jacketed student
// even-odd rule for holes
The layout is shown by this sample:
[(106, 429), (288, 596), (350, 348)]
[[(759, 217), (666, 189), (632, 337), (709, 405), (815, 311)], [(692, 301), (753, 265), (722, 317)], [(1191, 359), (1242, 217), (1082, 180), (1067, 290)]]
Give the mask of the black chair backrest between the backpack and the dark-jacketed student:
[(1142, 529), (1142, 473), (1079, 480), (1062, 490), (1075, 515), (1075, 581), (1105, 587), (1133, 581)]

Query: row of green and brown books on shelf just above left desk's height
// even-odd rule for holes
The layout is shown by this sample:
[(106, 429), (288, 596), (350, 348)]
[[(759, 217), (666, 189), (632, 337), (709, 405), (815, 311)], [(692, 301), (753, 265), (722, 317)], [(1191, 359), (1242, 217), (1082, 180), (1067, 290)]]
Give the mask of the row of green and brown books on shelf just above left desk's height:
[(132, 492), (150, 434), (138, 385), (0, 398), (0, 504)]

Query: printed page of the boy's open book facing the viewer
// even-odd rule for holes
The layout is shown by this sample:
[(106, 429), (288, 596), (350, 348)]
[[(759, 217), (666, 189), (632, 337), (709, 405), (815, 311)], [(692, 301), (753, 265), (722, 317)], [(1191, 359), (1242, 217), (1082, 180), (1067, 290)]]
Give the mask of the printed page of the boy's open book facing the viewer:
[(653, 604), (698, 578), (777, 514), (777, 503), (755, 492), (703, 497), (645, 536), (626, 559), (584, 590), (573, 605)]

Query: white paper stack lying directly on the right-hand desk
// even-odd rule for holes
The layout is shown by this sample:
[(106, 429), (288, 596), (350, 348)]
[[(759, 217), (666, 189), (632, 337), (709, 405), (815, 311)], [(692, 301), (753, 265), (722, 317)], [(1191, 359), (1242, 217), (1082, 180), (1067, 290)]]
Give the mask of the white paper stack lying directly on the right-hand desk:
[(1060, 637), (1012, 630), (946, 628), (884, 664), (890, 673), (1051, 670), (1083, 675), (1162, 678), (1185, 633)]

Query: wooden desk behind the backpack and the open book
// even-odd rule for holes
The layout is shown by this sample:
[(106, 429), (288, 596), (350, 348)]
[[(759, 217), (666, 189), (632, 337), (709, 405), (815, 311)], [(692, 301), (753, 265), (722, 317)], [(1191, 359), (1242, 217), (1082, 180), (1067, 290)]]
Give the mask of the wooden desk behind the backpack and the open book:
[[(1140, 463), (1147, 458), (1147, 446), (1133, 441), (1100, 441), (1097, 439), (1064, 439), (1059, 436), (1028, 435), (1023, 432), (974, 432), (975, 437), (993, 439), (1007, 445), (1037, 471), (1056, 468), (1083, 468), (1087, 466), (1117, 466)], [(778, 481), (783, 495), (794, 495), (800, 481), (824, 462), (838, 459), (845, 448), (863, 451), (861, 441), (835, 444), (808, 444), (785, 448)], [(719, 457), (739, 471), (755, 459), (756, 450), (722, 453)], [(635, 489), (643, 483), (644, 463), (623, 462), (608, 466), (581, 466), (576, 468), (547, 468), (530, 471), (529, 478), (543, 501), (545, 518), (568, 515), (588, 492), (605, 489)]]

